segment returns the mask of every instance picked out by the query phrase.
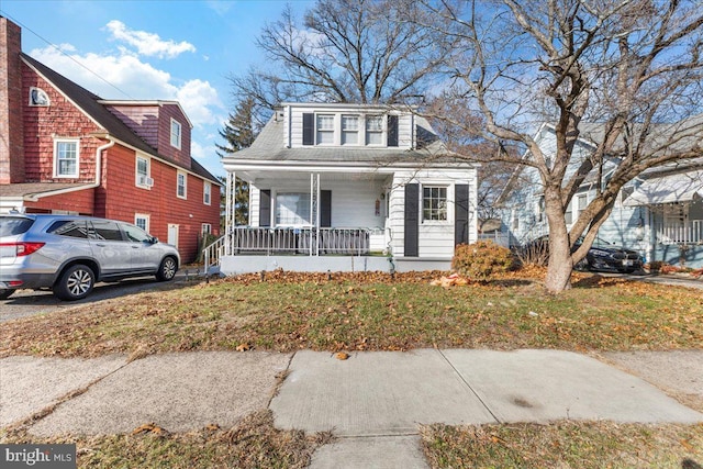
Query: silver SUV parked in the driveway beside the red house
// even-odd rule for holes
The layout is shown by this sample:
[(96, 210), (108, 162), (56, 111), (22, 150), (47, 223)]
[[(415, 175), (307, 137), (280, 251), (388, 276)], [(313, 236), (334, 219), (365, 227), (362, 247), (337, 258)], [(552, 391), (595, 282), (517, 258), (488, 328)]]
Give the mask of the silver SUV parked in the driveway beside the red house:
[(52, 288), (66, 301), (97, 281), (156, 276), (171, 280), (178, 249), (138, 226), (72, 215), (0, 215), (0, 300), (18, 289)]

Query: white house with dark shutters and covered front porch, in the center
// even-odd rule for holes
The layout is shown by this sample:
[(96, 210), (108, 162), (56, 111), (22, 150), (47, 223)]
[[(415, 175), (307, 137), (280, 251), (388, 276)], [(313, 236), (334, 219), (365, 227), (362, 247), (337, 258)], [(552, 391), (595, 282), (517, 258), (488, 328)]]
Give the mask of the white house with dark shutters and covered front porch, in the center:
[[(477, 168), (411, 110), (283, 103), (227, 171), (221, 271), (448, 269), (477, 239)], [(249, 225), (234, 225), (234, 181)]]

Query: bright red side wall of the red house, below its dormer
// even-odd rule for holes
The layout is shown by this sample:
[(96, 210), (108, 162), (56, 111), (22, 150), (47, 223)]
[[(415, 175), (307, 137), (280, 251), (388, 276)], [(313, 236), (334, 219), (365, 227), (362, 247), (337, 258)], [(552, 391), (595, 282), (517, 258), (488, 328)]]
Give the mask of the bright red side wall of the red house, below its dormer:
[[(185, 263), (198, 257), (198, 239), (201, 224), (210, 223), (213, 233), (220, 226), (220, 191), (212, 187), (212, 203), (202, 203), (203, 181), (188, 175), (188, 199), (176, 197), (177, 168), (152, 158), (150, 189), (136, 187), (136, 155), (133, 150), (115, 145), (107, 158), (104, 190), (98, 199), (104, 199), (105, 213), (101, 216), (134, 223), (134, 215), (149, 215), (149, 232), (166, 242), (168, 225), (179, 225), (178, 248)], [(191, 216), (192, 215), (192, 216)]]

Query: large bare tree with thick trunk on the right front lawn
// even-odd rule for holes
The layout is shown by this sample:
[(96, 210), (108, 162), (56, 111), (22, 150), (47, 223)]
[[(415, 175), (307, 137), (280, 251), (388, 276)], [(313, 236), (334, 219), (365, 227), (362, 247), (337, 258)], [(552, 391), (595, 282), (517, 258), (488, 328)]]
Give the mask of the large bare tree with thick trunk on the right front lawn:
[[(422, 25), (455, 51), (446, 88), (482, 114), (483, 136), (501, 148), (493, 159), (539, 175), (550, 234), (546, 288), (558, 293), (570, 287), (573, 265), (623, 185), (645, 169), (703, 155), (703, 9), (698, 0), (423, 4), (433, 21)], [(556, 136), (549, 154), (534, 138), (545, 122)], [(579, 138), (593, 143), (587, 157), (574, 152)], [(610, 178), (606, 160), (617, 164)], [(566, 208), (590, 175), (596, 197), (568, 230)]]

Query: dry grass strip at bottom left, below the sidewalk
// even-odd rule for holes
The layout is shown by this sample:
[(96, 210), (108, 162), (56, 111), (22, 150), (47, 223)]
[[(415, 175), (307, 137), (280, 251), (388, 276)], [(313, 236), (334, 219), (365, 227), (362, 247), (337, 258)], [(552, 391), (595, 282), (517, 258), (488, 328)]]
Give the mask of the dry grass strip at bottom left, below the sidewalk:
[(256, 412), (230, 429), (186, 434), (63, 436), (37, 439), (22, 431), (0, 434), (5, 444), (76, 444), (79, 468), (304, 468), (313, 451), (331, 440), (320, 433), (274, 427), (270, 411)]

